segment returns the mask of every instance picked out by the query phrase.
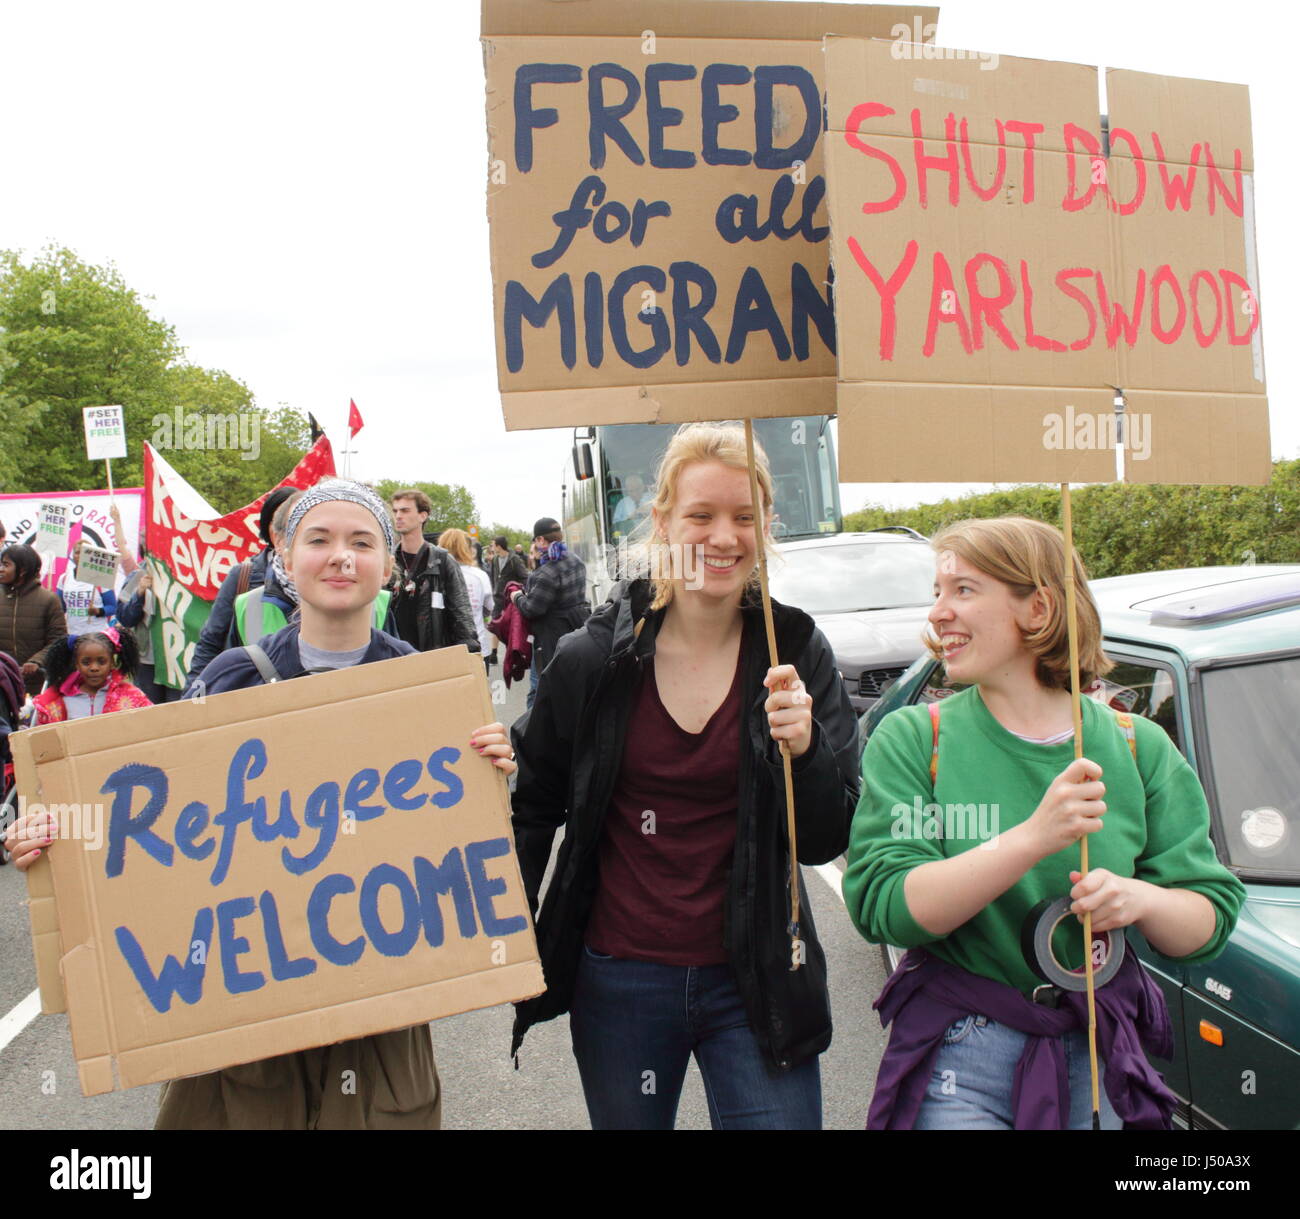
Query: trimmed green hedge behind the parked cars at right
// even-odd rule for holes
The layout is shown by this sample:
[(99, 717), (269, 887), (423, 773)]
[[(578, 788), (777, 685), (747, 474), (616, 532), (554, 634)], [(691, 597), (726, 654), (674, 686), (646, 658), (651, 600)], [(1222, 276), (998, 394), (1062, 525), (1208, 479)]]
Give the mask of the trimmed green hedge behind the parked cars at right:
[[(1300, 460), (1275, 461), (1262, 487), (1100, 483), (1071, 495), (1074, 542), (1088, 574), (1178, 567), (1300, 563)], [(1061, 524), (1061, 489), (1024, 486), (915, 508), (867, 504), (848, 530), (909, 525), (927, 537), (968, 517), (1031, 516)]]

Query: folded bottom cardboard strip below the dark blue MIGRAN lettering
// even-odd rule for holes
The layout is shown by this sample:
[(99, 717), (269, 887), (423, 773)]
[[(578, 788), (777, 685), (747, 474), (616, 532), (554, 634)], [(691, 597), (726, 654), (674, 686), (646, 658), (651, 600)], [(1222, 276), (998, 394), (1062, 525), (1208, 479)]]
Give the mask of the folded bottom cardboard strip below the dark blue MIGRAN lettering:
[(835, 415), (835, 377), (690, 381), (502, 394), (506, 430)]

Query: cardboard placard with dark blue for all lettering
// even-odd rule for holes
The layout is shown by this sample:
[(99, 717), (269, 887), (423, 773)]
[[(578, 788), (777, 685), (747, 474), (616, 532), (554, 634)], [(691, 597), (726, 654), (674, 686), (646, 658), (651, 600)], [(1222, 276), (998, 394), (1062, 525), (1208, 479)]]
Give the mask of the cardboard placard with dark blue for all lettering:
[(822, 35), (936, 17), (484, 0), (506, 426), (833, 412)]

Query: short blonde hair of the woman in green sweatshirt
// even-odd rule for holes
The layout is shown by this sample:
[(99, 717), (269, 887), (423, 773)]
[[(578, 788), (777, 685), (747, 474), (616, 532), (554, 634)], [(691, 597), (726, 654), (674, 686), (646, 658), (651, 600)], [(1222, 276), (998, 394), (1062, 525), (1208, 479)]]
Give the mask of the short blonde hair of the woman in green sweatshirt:
[[(1035, 676), (1049, 690), (1070, 689), (1070, 641), (1065, 598), (1065, 537), (1060, 529), (1024, 516), (1000, 516), (991, 521), (958, 521), (941, 529), (931, 542), (936, 554), (952, 551), (971, 567), (1010, 587), (1019, 599), (1043, 593), (1046, 621), (1037, 630), (1022, 630), (1024, 646), (1037, 658)], [(1114, 668), (1101, 650), (1101, 616), (1088, 591), (1088, 573), (1076, 550), (1074, 563), (1075, 606), (1079, 619), (1079, 687), (1087, 689)], [(926, 647), (936, 660), (944, 651), (932, 630)]]

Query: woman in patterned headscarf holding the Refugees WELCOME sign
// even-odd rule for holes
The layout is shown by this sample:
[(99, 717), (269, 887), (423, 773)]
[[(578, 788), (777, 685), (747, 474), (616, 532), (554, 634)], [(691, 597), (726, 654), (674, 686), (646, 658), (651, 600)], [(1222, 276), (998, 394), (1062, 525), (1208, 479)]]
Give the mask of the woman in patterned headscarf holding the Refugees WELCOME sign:
[[(292, 680), (411, 655), (410, 645), (370, 626), (393, 546), (387, 509), (369, 487), (333, 480), (308, 490), (286, 526), (300, 621), (264, 638), (261, 655), (220, 655), (187, 697), (260, 685), (264, 667), (276, 680)], [(515, 771), (500, 724), (477, 729), (471, 746), (507, 775)], [(8, 841), (18, 867), (30, 867), (57, 836), (49, 814), (14, 823)], [(350, 1089), (341, 1085), (348, 1079)], [(157, 1128), (429, 1129), (441, 1114), (429, 1028), (421, 1024), (173, 1080)]]

